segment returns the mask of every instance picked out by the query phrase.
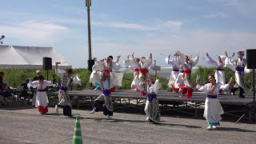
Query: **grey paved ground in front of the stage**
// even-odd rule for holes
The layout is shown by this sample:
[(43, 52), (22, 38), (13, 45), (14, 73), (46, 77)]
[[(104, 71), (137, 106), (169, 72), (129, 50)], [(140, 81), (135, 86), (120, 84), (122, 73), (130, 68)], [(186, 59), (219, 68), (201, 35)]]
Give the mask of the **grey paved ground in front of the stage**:
[[(162, 117), (162, 124), (145, 121), (142, 114), (114, 113), (107, 120), (102, 112), (73, 110), (80, 115), (84, 143), (255, 143), (256, 125), (221, 122), (218, 130), (206, 130), (206, 121)], [(31, 106), (0, 109), (0, 143), (72, 143), (74, 118), (40, 115)]]

